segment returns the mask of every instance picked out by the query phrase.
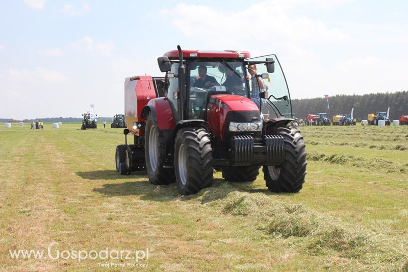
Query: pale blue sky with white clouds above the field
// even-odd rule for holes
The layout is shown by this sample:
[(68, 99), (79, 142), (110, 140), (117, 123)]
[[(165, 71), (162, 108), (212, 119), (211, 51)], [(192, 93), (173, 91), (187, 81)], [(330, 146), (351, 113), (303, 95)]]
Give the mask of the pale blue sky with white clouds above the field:
[(0, 0), (0, 118), (124, 112), (123, 83), (185, 50), (276, 54), (292, 99), (407, 90), (408, 1)]

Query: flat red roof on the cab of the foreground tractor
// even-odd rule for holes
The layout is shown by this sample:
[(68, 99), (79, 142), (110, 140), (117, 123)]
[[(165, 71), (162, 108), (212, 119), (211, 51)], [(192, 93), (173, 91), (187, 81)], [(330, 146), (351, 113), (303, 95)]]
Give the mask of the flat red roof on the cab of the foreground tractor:
[[(243, 59), (247, 59), (251, 57), (251, 54), (249, 54), (248, 51), (183, 50), (182, 52), (183, 52), (183, 58), (231, 58), (231, 59), (243, 58)], [(168, 58), (179, 58), (179, 51), (171, 50), (169, 52), (166, 52), (163, 56), (167, 56)]]

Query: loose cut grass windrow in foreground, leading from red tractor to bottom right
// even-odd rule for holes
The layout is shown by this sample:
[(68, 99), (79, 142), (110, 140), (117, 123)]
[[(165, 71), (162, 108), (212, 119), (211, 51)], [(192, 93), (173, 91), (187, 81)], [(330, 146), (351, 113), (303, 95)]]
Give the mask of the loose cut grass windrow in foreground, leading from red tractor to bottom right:
[(406, 241), (323, 215), (302, 204), (282, 203), (278, 195), (235, 191), (227, 184), (199, 194), (202, 204), (215, 206), (224, 214), (249, 217), (254, 226), (271, 235), (271, 242), (276, 239), (291, 244), (304, 254), (336, 255), (348, 259), (353, 268), (370, 270), (398, 270), (408, 260)]

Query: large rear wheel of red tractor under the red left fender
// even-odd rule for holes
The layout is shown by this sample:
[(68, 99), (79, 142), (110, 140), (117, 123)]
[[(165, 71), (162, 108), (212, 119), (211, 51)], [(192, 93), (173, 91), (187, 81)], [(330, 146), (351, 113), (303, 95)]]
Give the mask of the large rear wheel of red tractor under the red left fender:
[(166, 145), (163, 133), (150, 113), (146, 120), (144, 142), (147, 176), (151, 184), (170, 184), (174, 182), (172, 168), (164, 168), (166, 162)]

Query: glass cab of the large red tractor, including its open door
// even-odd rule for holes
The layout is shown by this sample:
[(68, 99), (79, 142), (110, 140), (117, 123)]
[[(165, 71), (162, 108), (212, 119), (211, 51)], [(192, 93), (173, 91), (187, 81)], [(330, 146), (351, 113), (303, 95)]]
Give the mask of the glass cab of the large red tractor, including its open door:
[[(236, 101), (235, 106), (252, 101), (250, 104), (257, 105), (258, 109), (251, 111), (259, 111), (263, 121), (293, 117), (289, 89), (275, 55), (248, 58), (246, 51), (183, 51), (182, 54), (183, 82), (179, 82), (179, 52), (170, 51), (158, 59), (161, 70), (167, 71), (164, 89), (177, 121), (209, 121), (209, 103), (223, 104), (218, 99), (220, 95), (230, 95), (231, 98), (223, 97), (231, 103)], [(257, 76), (247, 80), (250, 64), (257, 65)], [(259, 93), (254, 93), (252, 88), (259, 85), (258, 78), (265, 86), (255, 88)]]

